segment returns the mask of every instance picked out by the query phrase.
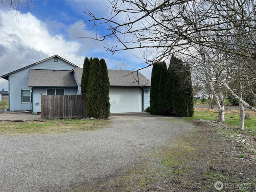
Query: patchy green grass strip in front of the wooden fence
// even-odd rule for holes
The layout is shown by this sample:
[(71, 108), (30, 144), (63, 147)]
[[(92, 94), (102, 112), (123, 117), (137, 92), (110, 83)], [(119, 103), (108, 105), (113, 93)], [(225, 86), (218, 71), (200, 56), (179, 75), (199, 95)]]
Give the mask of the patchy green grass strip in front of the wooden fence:
[(78, 130), (97, 130), (105, 128), (110, 122), (106, 120), (83, 120), (80, 119), (56, 119), (44, 121), (27, 121), (27, 122), (0, 122), (1, 134), (15, 133), (64, 133)]

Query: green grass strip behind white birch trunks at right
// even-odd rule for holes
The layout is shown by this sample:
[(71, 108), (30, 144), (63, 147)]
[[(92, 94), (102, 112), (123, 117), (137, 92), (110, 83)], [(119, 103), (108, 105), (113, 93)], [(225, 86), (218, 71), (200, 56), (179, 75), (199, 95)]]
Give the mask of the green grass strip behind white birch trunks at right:
[[(218, 120), (218, 113), (211, 112), (194, 112), (193, 119), (202, 119), (202, 120)], [(239, 114), (225, 114), (225, 124), (232, 127), (239, 127)], [(246, 129), (251, 129), (256, 131), (256, 116), (250, 116), (249, 119), (244, 120), (244, 127)]]

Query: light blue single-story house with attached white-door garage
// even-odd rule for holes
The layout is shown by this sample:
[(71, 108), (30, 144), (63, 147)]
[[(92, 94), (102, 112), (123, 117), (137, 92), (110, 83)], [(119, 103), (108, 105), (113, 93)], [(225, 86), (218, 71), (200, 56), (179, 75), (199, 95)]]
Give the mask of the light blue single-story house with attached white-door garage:
[[(9, 81), (9, 110), (41, 112), (43, 95), (79, 95), (83, 68), (58, 55), (1, 76)], [(150, 81), (140, 72), (108, 70), (110, 112), (143, 112), (149, 106)]]

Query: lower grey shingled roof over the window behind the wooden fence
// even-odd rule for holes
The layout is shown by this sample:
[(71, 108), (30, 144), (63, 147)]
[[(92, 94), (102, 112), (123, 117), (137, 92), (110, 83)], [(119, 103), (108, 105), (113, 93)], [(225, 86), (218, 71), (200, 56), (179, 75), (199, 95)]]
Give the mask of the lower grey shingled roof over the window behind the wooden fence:
[(29, 87), (76, 87), (76, 80), (70, 71), (30, 69)]

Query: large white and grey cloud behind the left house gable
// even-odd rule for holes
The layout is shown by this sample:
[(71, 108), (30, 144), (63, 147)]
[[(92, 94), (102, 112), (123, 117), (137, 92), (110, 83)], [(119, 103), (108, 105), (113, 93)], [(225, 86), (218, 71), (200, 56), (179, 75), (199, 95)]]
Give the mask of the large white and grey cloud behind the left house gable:
[[(1, 76), (55, 54), (74, 64), (83, 62), (76, 55), (78, 42), (65, 40), (61, 34), (51, 36), (46, 23), (30, 13), (20, 14), (17, 22), (10, 13), (1, 12), (0, 21)], [(8, 82), (2, 78), (0, 86), (8, 90)]]

